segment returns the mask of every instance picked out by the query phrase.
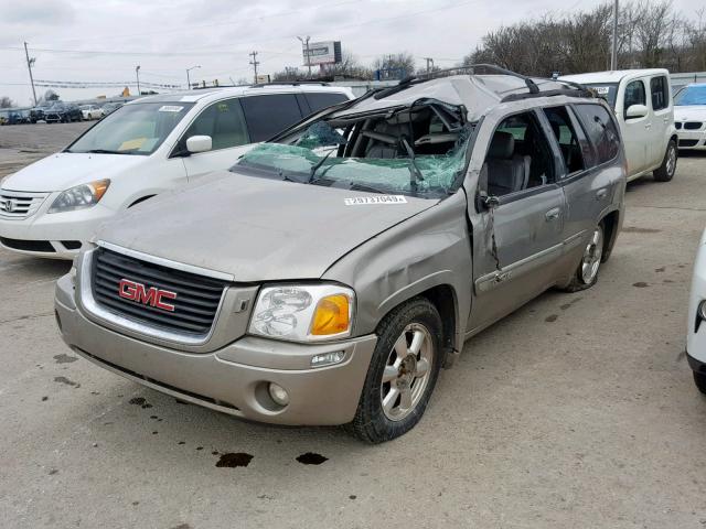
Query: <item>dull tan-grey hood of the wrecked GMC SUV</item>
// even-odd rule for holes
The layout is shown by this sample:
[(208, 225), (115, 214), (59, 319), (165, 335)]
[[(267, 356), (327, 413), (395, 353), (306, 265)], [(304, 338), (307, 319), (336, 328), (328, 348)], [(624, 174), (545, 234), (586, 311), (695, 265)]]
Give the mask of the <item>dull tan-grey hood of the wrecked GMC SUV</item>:
[[(238, 173), (160, 195), (98, 231), (151, 256), (232, 274), (238, 282), (318, 279), (336, 260), (438, 199), (346, 205), (383, 195)], [(349, 201), (350, 202), (350, 201)]]

